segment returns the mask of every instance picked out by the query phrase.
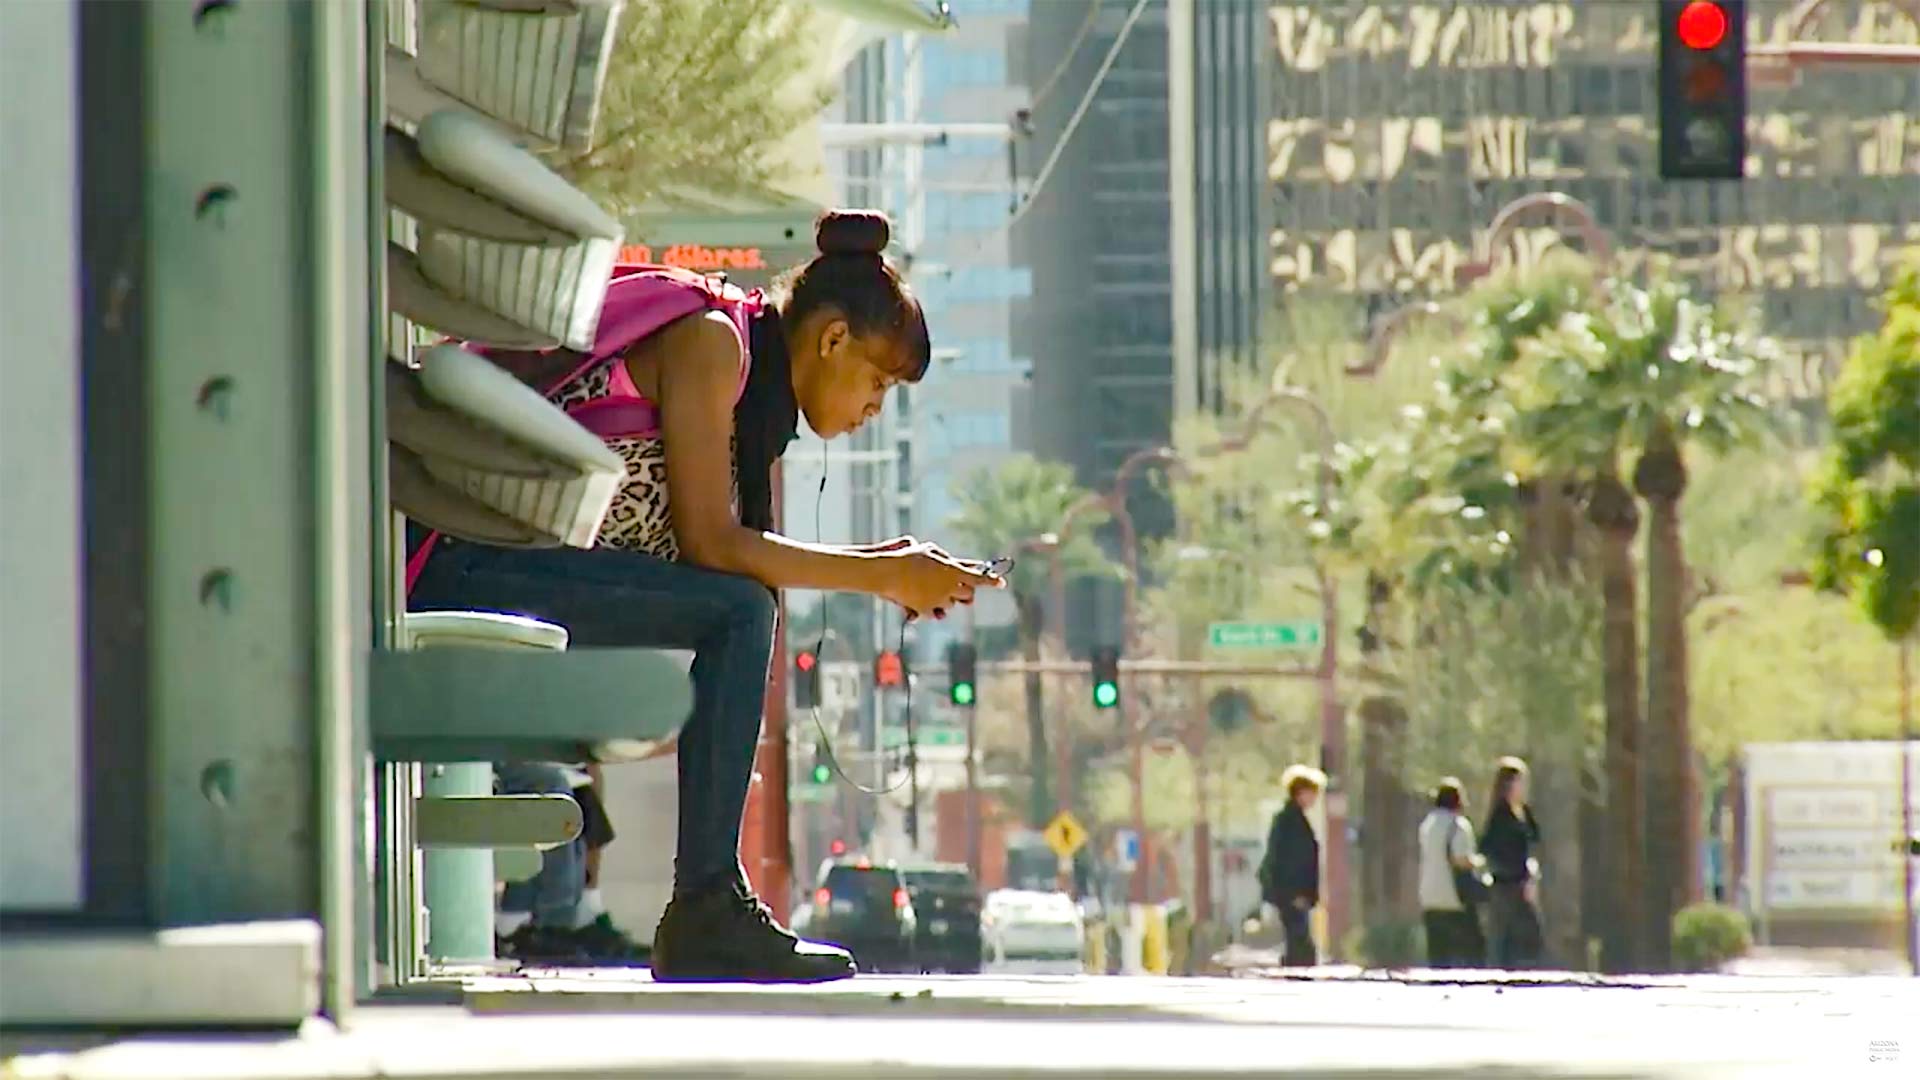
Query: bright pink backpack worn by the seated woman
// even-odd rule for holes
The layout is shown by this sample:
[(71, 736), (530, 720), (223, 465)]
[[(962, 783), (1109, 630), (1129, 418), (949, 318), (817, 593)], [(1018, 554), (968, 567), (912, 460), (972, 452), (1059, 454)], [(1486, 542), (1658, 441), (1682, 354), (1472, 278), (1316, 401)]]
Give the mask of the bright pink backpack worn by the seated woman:
[[(745, 292), (703, 273), (662, 265), (614, 265), (591, 352), (493, 348), (472, 348), (472, 352), (492, 359), (545, 398), (555, 398), (574, 382), (620, 359), (628, 348), (655, 331), (699, 311), (726, 311), (739, 331), (741, 342), (739, 382), (733, 386), (733, 400), (739, 402), (747, 390), (747, 373), (753, 363), (747, 331), (762, 307), (766, 307), (766, 296), (760, 290)], [(614, 371), (609, 394), (574, 404), (566, 415), (599, 438), (655, 436), (660, 432), (659, 405), (639, 396), (624, 369)], [(440, 540), (438, 532), (428, 534), (426, 542), (407, 557), (407, 592), (413, 592), (413, 582), (426, 569), (436, 540)]]

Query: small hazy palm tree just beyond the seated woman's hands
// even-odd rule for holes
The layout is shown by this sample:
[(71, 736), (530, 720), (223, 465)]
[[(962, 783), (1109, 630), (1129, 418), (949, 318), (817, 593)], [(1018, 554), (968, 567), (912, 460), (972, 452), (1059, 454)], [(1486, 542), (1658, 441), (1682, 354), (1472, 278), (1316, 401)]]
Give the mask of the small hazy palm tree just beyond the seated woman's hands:
[[(968, 473), (954, 484), (960, 511), (950, 525), (970, 546), (981, 552), (1014, 553), (1023, 544), (1060, 527), (1068, 509), (1087, 498), (1087, 488), (1073, 482), (1073, 469), (1058, 461), (1041, 461), (1020, 454), (998, 465)], [(1114, 575), (1114, 563), (1092, 540), (1092, 530), (1106, 521), (1106, 511), (1081, 515), (1077, 530), (1068, 536), (1052, 557), (1060, 559), (1066, 578)], [(1020, 613), (1020, 651), (1029, 663), (1041, 659), (1041, 636), (1046, 626), (1046, 559), (1018, 559), (1008, 586)], [(1056, 613), (1056, 619), (1062, 613)], [(1027, 822), (1035, 828), (1052, 821), (1056, 805), (1046, 753), (1046, 701), (1041, 675), (1027, 671)], [(1062, 713), (1064, 717), (1066, 713)], [(1062, 728), (1066, 724), (1062, 723)], [(1060, 732), (1062, 738), (1066, 732)]]

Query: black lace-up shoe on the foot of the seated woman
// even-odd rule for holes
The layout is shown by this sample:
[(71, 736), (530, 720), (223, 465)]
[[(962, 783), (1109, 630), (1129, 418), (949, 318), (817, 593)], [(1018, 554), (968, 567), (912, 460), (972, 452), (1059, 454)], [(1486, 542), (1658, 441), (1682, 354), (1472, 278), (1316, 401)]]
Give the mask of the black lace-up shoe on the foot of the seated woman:
[(676, 896), (653, 934), (657, 982), (831, 982), (845, 949), (803, 942), (745, 886)]

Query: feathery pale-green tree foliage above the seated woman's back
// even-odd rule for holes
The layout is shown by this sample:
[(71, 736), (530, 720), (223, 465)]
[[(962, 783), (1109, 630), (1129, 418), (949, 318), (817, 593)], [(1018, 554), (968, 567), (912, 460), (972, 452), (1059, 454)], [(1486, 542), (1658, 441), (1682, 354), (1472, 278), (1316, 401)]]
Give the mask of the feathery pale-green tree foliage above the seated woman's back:
[(676, 188), (776, 184), (791, 171), (781, 144), (833, 100), (820, 48), (820, 19), (797, 0), (628, 4), (593, 148), (549, 161), (614, 215)]

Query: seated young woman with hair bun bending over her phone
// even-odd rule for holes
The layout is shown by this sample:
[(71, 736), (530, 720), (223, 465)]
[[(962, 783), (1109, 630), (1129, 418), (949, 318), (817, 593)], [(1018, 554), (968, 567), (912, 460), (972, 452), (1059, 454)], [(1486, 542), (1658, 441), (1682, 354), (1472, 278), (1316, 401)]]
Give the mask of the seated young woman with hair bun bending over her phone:
[[(845, 951), (781, 926), (739, 867), (778, 590), (866, 592), (914, 617), (945, 617), (975, 590), (1000, 586), (983, 563), (910, 536), (843, 548), (772, 530), (770, 469), (799, 417), (822, 438), (843, 436), (879, 413), (889, 388), (927, 371), (920, 302), (881, 256), (889, 234), (881, 213), (826, 213), (820, 256), (789, 273), (774, 298), (730, 290), (557, 386), (549, 398), (570, 411), (595, 400), (614, 411), (624, 400), (655, 415), (641, 434), (603, 434), (628, 479), (599, 544), (505, 550), (440, 540), (409, 592), (417, 611), (551, 619), (582, 648), (693, 650), (674, 897), (653, 940), (657, 980), (822, 982), (854, 972)], [(659, 275), (643, 279), (616, 279), (607, 309), (622, 288), (660, 286)], [(603, 315), (603, 338), (607, 327)]]

